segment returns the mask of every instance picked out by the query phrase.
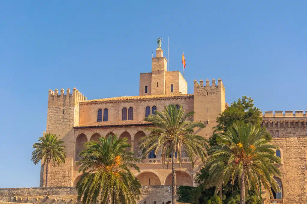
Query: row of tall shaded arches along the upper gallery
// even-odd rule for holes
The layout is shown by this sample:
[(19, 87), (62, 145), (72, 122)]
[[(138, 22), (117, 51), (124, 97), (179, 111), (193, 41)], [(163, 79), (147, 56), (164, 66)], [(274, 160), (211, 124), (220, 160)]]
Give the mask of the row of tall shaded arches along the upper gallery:
[[(109, 135), (115, 135), (113, 132), (109, 132), (107, 135), (100, 135), (99, 133), (95, 133), (91, 136), (90, 141), (94, 140), (99, 142), (99, 137), (108, 137)], [(129, 132), (125, 131), (121, 135), (119, 135), (119, 139), (127, 138), (127, 143), (132, 145), (132, 150), (129, 148), (127, 151), (134, 151), (134, 156), (137, 158), (142, 157), (142, 151), (139, 150), (140, 144), (139, 141), (142, 137), (144, 137), (146, 134), (143, 131), (138, 131), (132, 140), (132, 137)], [(88, 141), (87, 136), (84, 133), (81, 133), (76, 138), (76, 144), (75, 144), (75, 161), (80, 161), (81, 157), (79, 156), (80, 152), (84, 150), (84, 143)], [(149, 154), (149, 157), (151, 157), (152, 154)]]

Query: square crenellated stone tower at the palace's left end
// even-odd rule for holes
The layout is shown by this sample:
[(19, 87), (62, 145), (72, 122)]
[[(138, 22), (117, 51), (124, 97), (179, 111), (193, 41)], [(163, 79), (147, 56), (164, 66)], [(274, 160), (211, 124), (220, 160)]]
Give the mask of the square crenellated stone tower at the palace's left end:
[[(70, 186), (72, 180), (72, 161), (74, 153), (74, 134), (73, 127), (79, 125), (79, 102), (84, 101), (84, 97), (76, 88), (72, 90), (64, 89), (59, 91), (49, 90), (48, 111), (46, 132), (56, 134), (65, 142), (66, 161), (61, 167), (50, 167), (50, 187), (51, 186)], [(45, 167), (41, 166), (40, 186), (45, 186)]]

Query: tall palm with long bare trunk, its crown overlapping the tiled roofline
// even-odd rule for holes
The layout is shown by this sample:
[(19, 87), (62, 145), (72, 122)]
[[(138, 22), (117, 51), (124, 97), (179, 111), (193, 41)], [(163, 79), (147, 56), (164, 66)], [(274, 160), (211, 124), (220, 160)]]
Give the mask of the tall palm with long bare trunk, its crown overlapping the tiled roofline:
[(206, 158), (205, 149), (208, 147), (207, 140), (199, 135), (194, 134), (194, 128), (204, 128), (203, 123), (194, 123), (190, 119), (194, 112), (188, 112), (184, 115), (185, 110), (182, 105), (178, 108), (174, 104), (164, 107), (162, 112), (155, 112), (149, 115), (144, 120), (153, 123), (153, 127), (148, 127), (145, 131), (150, 131), (150, 135), (146, 135), (141, 139), (140, 149), (142, 151), (142, 158), (151, 152), (157, 155), (161, 149), (161, 161), (163, 167), (165, 160), (167, 160), (167, 167), (169, 158), (172, 158), (172, 203), (176, 204), (176, 168), (175, 168), (175, 154), (178, 153), (178, 160), (181, 167), (181, 149), (184, 149), (192, 167), (194, 167), (194, 157), (199, 156), (203, 161)]

